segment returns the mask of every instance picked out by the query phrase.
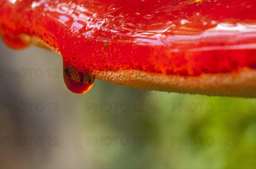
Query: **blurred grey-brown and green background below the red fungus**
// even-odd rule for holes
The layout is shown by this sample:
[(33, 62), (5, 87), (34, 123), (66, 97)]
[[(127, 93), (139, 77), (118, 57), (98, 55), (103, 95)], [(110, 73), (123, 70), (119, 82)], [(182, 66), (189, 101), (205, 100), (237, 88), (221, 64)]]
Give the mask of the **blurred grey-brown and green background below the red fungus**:
[[(1, 43), (0, 68), (1, 168), (256, 168), (256, 99), (143, 91), (97, 79), (78, 95), (64, 84), (61, 56), (35, 46), (15, 51)], [(3, 73), (15, 69), (17, 77)], [(44, 76), (20, 77), (21, 69)], [(4, 106), (15, 103), (44, 109)], [(3, 141), (15, 137), (44, 143)]]

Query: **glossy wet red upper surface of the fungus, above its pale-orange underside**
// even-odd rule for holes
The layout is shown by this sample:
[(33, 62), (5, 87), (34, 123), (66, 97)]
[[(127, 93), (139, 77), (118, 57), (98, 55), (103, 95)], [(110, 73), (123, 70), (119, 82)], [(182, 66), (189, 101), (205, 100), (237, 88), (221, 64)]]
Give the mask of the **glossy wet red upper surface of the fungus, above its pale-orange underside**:
[(10, 47), (33, 37), (81, 72), (197, 76), (256, 68), (255, 11), (255, 0), (1, 0), (0, 25)]

